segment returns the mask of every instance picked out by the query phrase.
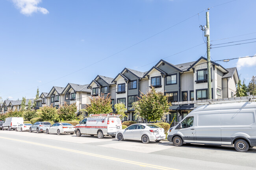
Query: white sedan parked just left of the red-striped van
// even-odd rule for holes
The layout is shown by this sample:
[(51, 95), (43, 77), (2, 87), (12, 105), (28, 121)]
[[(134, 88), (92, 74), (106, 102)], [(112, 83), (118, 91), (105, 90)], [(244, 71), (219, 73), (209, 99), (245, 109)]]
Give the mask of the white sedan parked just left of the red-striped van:
[(69, 123), (54, 123), (52, 126), (48, 126), (45, 130), (47, 134), (49, 133), (57, 133), (57, 135), (61, 135), (61, 133), (70, 133), (71, 135), (75, 132), (75, 126)]

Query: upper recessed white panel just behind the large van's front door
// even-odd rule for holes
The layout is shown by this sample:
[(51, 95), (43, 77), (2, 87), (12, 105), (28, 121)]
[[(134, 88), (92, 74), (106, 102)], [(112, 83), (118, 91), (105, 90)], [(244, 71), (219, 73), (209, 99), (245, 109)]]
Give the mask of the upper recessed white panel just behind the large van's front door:
[(198, 114), (198, 126), (221, 126), (221, 114)]

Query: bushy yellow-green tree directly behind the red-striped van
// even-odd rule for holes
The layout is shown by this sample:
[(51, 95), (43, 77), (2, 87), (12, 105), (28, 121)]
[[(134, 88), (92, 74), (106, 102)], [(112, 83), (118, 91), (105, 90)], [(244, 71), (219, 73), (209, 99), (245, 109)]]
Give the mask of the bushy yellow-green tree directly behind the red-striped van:
[(106, 96), (106, 98), (103, 96), (97, 96), (92, 97), (89, 99), (91, 104), (87, 105), (85, 108), (88, 115), (90, 114), (108, 114), (113, 112), (112, 110), (112, 104), (111, 104), (111, 98), (109, 97), (109, 94)]

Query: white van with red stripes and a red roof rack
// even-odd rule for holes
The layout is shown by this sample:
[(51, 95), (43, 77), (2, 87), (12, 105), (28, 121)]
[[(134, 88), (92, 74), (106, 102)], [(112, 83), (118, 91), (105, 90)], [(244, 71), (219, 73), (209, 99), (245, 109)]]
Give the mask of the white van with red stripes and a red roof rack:
[(122, 129), (122, 122), (117, 116), (87, 117), (76, 125), (76, 136), (81, 134), (97, 135), (103, 138), (104, 135), (115, 137), (115, 133)]

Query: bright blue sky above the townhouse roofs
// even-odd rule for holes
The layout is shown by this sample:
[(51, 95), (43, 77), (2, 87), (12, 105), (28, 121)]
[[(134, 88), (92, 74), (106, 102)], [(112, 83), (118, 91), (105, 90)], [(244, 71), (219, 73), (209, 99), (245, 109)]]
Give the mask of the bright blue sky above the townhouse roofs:
[[(148, 71), (160, 59), (207, 57), (199, 26), (208, 7), (212, 45), (256, 38), (256, 1), (230, 1), (1, 0), (0, 96), (32, 99), (37, 87), (41, 94), (124, 68)], [(253, 55), (256, 43), (211, 49), (213, 61)], [(256, 57), (217, 63), (237, 67), (246, 84), (256, 75)]]

